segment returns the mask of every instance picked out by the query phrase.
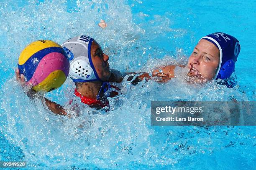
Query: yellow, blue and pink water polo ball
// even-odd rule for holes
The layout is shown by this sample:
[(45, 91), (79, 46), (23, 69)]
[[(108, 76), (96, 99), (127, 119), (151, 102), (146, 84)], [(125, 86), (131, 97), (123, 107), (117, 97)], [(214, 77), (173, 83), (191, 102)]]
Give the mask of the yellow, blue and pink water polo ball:
[(18, 60), (20, 74), (36, 91), (51, 91), (60, 87), (69, 74), (69, 58), (65, 50), (51, 40), (29, 44)]

